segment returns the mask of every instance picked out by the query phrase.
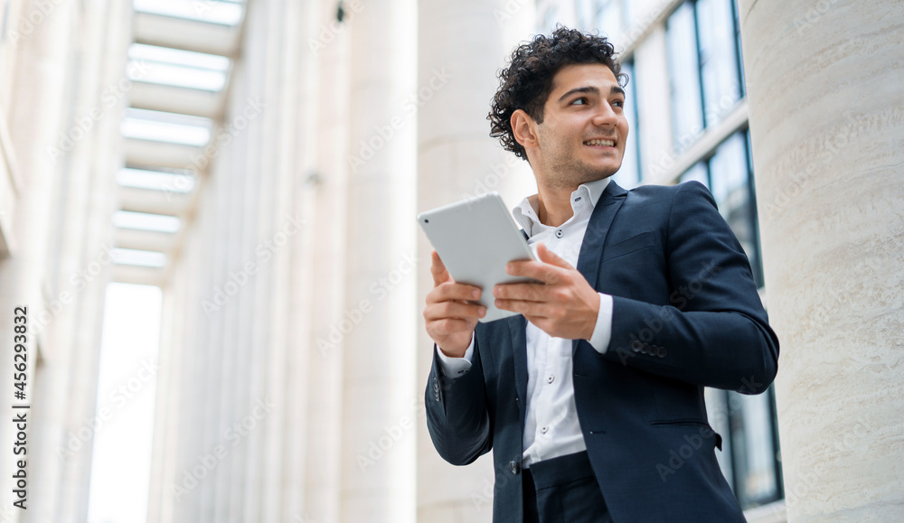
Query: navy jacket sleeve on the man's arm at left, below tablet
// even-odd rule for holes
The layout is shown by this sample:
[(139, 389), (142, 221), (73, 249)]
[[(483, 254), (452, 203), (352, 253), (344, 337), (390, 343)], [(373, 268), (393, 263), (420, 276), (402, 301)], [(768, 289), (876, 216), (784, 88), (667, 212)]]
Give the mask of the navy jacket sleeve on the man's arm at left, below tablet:
[(448, 378), (440, 368), (437, 350), (434, 345), (424, 399), (427, 428), (444, 460), (466, 465), (493, 447), (480, 354), (475, 347), (471, 369), (463, 376)]

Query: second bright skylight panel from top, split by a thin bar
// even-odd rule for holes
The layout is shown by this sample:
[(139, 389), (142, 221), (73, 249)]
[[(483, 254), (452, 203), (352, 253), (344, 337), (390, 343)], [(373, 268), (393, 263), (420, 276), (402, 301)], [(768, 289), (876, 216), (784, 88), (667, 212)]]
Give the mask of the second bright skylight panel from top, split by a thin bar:
[(217, 92), (226, 85), (225, 56), (133, 43), (128, 48), (129, 79)]

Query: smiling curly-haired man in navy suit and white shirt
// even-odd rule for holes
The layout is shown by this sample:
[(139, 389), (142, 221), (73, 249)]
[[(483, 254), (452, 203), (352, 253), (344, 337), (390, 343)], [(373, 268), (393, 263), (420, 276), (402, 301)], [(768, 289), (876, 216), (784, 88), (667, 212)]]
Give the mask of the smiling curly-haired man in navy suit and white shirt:
[[(433, 253), (429, 432), (454, 464), (494, 451), (497, 522), (743, 521), (703, 388), (763, 392), (778, 341), (709, 191), (609, 180), (628, 133), (614, 55), (560, 28), (500, 74), (491, 135), (539, 190), (514, 216), (540, 261), (507, 270), (543, 284), (457, 284)], [(520, 314), (478, 323), (482, 292)]]

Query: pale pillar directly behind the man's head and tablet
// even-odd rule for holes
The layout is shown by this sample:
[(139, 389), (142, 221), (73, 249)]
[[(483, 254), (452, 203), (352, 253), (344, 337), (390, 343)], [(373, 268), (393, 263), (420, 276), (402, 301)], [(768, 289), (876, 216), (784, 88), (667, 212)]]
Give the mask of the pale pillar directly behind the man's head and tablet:
[[(490, 110), (498, 70), (517, 42), (533, 33), (533, 5), (504, 0), (421, 2), (418, 74), (418, 211), (478, 196), (502, 194), (507, 206), (536, 192), (526, 162), (504, 152), (489, 136)], [(480, 38), (464, 35), (480, 34)], [(424, 328), (424, 298), (433, 288), (429, 272), (433, 247), (419, 233), (418, 389), (424, 389), (433, 354)], [(423, 409), (419, 410), (420, 413)], [(418, 520), (490, 521), (493, 516), (493, 461), (487, 455), (467, 467), (444, 462), (434, 449), (426, 416), (419, 416)]]

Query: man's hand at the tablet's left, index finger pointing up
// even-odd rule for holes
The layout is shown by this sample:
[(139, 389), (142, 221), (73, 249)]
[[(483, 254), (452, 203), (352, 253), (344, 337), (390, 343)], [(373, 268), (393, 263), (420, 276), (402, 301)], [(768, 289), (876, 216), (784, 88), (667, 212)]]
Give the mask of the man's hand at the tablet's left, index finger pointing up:
[(427, 333), (449, 358), (461, 358), (471, 345), (477, 320), (486, 314), (483, 305), (468, 303), (480, 298), (480, 287), (455, 283), (437, 251), (431, 256), (430, 274), (433, 290), (424, 307)]

